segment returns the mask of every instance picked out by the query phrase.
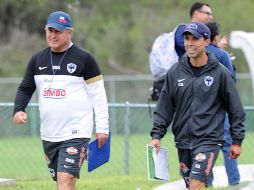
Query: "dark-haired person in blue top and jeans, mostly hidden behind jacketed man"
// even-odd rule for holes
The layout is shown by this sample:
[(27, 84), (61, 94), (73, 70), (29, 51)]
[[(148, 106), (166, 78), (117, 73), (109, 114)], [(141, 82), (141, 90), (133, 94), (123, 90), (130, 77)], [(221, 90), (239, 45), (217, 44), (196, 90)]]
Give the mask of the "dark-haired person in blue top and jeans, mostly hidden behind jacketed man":
[[(218, 61), (223, 64), (231, 73), (232, 78), (236, 81), (235, 70), (230, 59), (230, 55), (227, 51), (218, 47), (220, 41), (220, 25), (217, 22), (209, 22), (206, 26), (211, 31), (211, 43), (207, 46), (206, 50), (214, 53)], [(224, 122), (224, 143), (222, 146), (222, 152), (224, 157), (224, 165), (228, 177), (229, 185), (236, 185), (240, 182), (240, 173), (238, 169), (237, 159), (230, 158), (230, 146), (233, 140), (230, 135), (230, 123), (228, 114), (225, 116)]]

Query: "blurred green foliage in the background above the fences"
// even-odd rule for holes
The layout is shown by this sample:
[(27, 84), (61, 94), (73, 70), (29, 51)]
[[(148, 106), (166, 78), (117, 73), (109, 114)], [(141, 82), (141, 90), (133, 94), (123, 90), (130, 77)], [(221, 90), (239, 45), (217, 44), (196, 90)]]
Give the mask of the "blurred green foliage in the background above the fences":
[[(159, 34), (173, 30), (177, 24), (189, 22), (189, 8), (193, 2), (2, 0), (0, 77), (23, 75), (31, 55), (45, 46), (45, 22), (47, 15), (55, 10), (68, 11), (72, 15), (74, 42), (95, 56), (103, 74), (149, 74), (148, 54), (153, 40)], [(222, 34), (229, 35), (233, 30), (253, 31), (254, 1), (208, 3), (216, 21), (222, 26)], [(23, 37), (18, 38), (18, 33)], [(17, 46), (17, 43), (20, 45)], [(237, 72), (248, 72), (243, 53), (231, 48), (228, 50), (237, 57), (234, 63)]]

